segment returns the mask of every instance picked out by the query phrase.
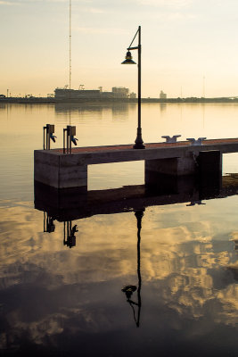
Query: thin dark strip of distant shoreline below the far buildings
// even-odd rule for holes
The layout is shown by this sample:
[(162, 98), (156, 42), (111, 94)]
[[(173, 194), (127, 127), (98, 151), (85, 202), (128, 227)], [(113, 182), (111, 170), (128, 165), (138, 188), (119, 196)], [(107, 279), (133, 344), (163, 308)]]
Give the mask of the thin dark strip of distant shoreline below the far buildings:
[[(56, 99), (47, 97), (0, 97), (0, 104), (137, 104), (137, 98), (80, 98), (80, 99)], [(238, 98), (142, 98), (142, 103), (155, 104), (237, 104)]]

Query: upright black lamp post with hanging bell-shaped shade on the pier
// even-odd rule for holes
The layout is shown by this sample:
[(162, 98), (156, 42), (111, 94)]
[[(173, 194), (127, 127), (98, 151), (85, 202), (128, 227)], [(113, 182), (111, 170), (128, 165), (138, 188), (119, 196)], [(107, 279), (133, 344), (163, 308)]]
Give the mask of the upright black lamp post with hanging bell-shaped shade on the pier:
[[(138, 34), (138, 46), (136, 47), (131, 47), (133, 44), (136, 35)], [(135, 37), (133, 38), (130, 46), (127, 48), (127, 55), (126, 55), (126, 60), (123, 61), (121, 64), (136, 64), (132, 60), (132, 55), (130, 53), (130, 50), (138, 50), (138, 127), (137, 127), (137, 136), (135, 139), (135, 145), (133, 146), (134, 149), (144, 149), (145, 145), (143, 144), (143, 139), (142, 139), (142, 128), (141, 128), (141, 53), (142, 53), (142, 46), (141, 46), (141, 27), (137, 29), (135, 33)]]

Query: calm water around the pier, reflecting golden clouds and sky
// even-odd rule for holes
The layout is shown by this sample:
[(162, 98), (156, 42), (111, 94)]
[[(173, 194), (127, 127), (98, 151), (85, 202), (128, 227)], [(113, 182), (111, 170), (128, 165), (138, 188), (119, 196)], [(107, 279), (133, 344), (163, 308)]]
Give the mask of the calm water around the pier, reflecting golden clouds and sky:
[[(128, 144), (136, 115), (133, 104), (0, 106), (0, 355), (237, 356), (238, 185), (202, 201), (190, 187), (145, 204), (77, 203), (58, 220), (35, 208), (46, 123), (53, 147), (67, 124), (78, 145)], [(143, 104), (142, 115), (145, 143), (238, 136), (238, 105)], [(237, 154), (223, 172), (238, 172)], [(144, 162), (89, 167), (93, 191), (143, 184)]]

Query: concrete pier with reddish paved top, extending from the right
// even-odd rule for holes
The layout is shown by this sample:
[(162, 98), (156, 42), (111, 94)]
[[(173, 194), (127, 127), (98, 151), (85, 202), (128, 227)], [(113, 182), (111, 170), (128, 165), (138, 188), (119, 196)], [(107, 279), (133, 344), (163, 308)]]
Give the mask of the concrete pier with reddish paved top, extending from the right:
[(109, 162), (145, 162), (145, 185), (158, 184), (160, 176), (213, 175), (222, 171), (222, 154), (238, 152), (238, 138), (132, 145), (77, 147), (71, 154), (62, 149), (35, 151), (35, 180), (56, 188), (87, 188), (87, 166)]

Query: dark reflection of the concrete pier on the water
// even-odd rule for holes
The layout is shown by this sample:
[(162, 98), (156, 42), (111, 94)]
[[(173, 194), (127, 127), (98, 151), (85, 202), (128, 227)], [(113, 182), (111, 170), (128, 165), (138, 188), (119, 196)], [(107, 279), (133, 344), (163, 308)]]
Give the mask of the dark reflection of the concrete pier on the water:
[(201, 200), (237, 195), (238, 177), (225, 176), (203, 185), (196, 178), (161, 182), (159, 189), (144, 185), (121, 187), (82, 194), (78, 188), (55, 189), (35, 182), (35, 208), (48, 212), (53, 220), (79, 220), (95, 214), (142, 210), (149, 206), (175, 203), (201, 203)]

